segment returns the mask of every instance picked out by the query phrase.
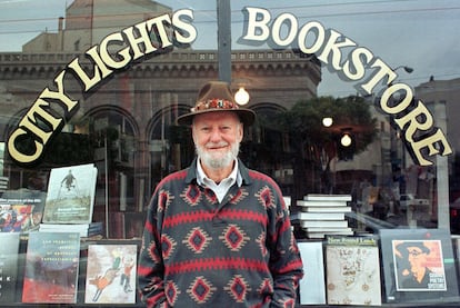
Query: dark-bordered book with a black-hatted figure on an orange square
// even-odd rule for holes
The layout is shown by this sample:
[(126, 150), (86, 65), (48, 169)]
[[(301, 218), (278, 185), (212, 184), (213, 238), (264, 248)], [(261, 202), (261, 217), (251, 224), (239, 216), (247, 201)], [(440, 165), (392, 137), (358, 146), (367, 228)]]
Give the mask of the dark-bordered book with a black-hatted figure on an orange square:
[(442, 229), (380, 231), (388, 302), (458, 300), (450, 234)]

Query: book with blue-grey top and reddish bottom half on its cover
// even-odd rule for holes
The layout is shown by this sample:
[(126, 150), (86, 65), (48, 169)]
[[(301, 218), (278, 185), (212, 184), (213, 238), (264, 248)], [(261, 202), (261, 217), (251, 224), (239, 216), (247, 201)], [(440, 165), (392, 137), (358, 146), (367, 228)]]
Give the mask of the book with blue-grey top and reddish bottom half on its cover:
[(78, 232), (30, 232), (22, 302), (76, 304), (79, 259)]

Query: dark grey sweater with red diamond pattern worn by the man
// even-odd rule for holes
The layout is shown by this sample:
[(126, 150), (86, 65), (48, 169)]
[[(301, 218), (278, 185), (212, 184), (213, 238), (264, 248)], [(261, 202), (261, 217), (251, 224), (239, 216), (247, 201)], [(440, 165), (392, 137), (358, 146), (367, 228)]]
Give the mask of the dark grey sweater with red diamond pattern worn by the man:
[(219, 203), (197, 160), (149, 205), (138, 279), (148, 307), (294, 307), (302, 261), (278, 185), (239, 161)]

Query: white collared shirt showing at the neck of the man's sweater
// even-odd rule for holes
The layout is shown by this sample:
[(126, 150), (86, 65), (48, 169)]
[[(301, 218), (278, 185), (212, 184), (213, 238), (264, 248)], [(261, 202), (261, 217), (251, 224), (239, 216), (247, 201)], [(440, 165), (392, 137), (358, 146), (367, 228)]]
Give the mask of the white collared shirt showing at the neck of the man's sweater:
[(197, 159), (197, 182), (200, 186), (211, 189), (216, 193), (219, 202), (222, 202), (223, 197), (226, 197), (227, 192), (233, 183), (237, 182), (238, 187), (241, 187), (242, 178), (240, 171), (238, 170), (238, 159), (234, 160), (233, 170), (231, 173), (220, 183), (216, 183), (213, 180), (208, 178), (201, 166), (201, 160)]

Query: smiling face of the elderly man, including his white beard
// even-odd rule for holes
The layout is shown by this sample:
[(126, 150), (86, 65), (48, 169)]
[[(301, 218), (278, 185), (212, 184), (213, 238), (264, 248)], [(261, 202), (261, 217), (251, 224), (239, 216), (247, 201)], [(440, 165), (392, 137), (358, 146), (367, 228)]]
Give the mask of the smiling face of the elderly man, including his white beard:
[(243, 127), (231, 111), (208, 112), (194, 116), (192, 135), (201, 162), (209, 168), (221, 169), (237, 158)]

